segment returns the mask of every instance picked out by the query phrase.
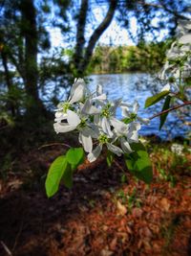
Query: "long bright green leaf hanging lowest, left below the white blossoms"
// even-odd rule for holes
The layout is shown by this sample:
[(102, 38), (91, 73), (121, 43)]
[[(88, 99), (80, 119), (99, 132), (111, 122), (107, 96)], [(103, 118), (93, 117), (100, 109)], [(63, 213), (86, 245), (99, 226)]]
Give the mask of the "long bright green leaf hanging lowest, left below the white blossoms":
[(60, 180), (67, 170), (67, 159), (64, 155), (58, 156), (52, 163), (46, 178), (45, 188), (48, 198), (57, 192)]

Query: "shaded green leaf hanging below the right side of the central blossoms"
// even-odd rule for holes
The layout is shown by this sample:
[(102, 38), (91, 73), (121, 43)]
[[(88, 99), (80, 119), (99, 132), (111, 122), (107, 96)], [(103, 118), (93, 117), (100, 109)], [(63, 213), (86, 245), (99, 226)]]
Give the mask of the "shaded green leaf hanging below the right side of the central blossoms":
[(131, 148), (133, 152), (124, 155), (128, 170), (145, 183), (151, 183), (153, 170), (145, 147), (141, 143), (133, 143)]

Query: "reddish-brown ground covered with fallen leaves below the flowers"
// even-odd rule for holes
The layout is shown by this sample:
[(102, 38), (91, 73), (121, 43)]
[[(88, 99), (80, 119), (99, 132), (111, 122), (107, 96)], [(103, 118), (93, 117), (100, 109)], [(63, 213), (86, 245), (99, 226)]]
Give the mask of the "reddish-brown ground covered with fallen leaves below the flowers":
[(191, 255), (189, 172), (170, 186), (154, 157), (150, 186), (128, 174), (122, 182), (120, 159), (108, 168), (102, 157), (78, 169), (73, 189), (47, 198), (43, 184), (58, 148), (21, 155), (25, 172), (14, 166), (0, 180), (1, 256)]

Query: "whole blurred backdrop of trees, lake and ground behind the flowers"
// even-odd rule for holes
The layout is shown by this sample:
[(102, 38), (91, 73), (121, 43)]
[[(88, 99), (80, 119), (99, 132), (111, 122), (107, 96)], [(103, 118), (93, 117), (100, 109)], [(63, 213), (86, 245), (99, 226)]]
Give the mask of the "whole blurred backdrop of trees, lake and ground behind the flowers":
[(153, 116), (163, 103), (145, 100), (164, 85), (165, 53), (190, 17), (190, 0), (0, 0), (0, 255), (191, 255), (186, 107), (140, 130), (151, 187), (100, 157), (72, 190), (48, 199), (44, 188), (53, 160), (77, 145), (53, 130), (74, 78)]

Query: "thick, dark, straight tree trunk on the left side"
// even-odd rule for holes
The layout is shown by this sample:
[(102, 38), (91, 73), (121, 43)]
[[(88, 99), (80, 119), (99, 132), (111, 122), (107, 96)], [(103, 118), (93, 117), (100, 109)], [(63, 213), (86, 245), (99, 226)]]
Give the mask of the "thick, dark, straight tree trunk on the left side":
[(38, 32), (33, 0), (21, 1), (22, 35), (25, 44), (24, 82), (28, 96), (27, 112), (32, 117), (45, 111), (38, 94)]

